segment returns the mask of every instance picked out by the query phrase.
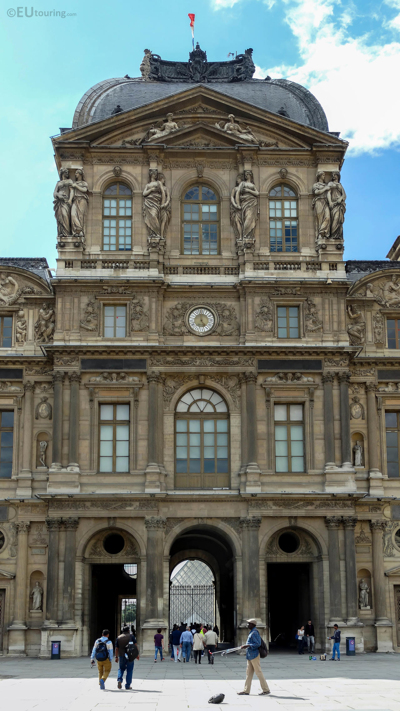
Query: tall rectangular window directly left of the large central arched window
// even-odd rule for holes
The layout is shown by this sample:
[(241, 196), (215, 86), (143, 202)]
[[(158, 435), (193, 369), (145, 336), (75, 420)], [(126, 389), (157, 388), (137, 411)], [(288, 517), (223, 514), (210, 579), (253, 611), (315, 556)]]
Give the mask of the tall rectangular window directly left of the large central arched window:
[(99, 406), (99, 471), (129, 471), (129, 403)]

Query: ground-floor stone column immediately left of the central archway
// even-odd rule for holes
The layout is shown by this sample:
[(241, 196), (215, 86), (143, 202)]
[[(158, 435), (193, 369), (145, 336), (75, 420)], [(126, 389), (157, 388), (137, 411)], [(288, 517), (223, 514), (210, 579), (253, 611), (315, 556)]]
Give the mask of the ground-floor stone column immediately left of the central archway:
[(164, 531), (166, 518), (149, 516), (144, 519), (147, 528), (146, 560), (146, 623), (159, 626), (164, 614)]

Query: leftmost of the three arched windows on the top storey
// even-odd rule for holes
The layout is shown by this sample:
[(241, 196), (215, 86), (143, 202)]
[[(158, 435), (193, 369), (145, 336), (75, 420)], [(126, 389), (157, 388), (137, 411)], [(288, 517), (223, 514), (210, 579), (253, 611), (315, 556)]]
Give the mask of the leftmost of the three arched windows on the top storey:
[(102, 198), (102, 248), (132, 250), (132, 190), (124, 183), (109, 185)]

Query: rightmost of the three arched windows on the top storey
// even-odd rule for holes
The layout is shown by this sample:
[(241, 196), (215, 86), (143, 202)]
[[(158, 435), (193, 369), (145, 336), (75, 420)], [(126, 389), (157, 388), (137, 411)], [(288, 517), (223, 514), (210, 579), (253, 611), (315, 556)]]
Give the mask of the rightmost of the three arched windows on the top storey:
[(270, 190), (270, 251), (298, 252), (298, 201), (289, 185)]

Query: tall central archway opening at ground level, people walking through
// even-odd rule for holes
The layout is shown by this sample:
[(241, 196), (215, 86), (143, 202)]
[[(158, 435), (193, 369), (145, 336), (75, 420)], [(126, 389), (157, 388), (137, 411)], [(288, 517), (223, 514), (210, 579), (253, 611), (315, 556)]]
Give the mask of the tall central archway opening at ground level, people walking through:
[[(232, 643), (236, 637), (236, 599), (235, 599), (235, 574), (234, 574), (234, 554), (231, 542), (220, 529), (210, 525), (196, 525), (188, 528), (174, 540), (170, 549), (169, 578), (170, 578), (170, 624), (180, 624), (181, 622), (209, 623), (211, 626), (219, 626), (222, 642)], [(179, 563), (184, 561), (199, 561), (206, 564), (203, 568), (203, 582), (199, 577), (200, 567), (186, 567), (186, 572), (190, 575), (193, 572), (193, 579), (196, 579), (197, 586), (204, 586), (203, 591), (181, 590), (181, 606), (179, 606), (179, 593), (172, 594), (171, 581), (172, 572), (177, 569)], [(211, 571), (213, 579), (207, 575), (206, 569)], [(188, 579), (185, 577), (185, 581)], [(183, 582), (183, 581), (182, 581)], [(188, 585), (189, 583), (184, 583)], [(176, 592), (176, 591), (175, 591)], [(201, 596), (204, 599), (201, 600)], [(190, 606), (192, 611), (189, 612)], [(212, 619), (192, 619), (191, 614), (201, 609), (207, 612)], [(176, 616), (177, 619), (172, 619)], [(187, 618), (187, 619), (186, 619)]]

